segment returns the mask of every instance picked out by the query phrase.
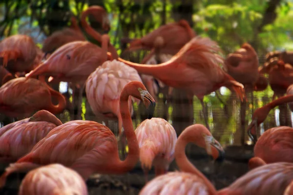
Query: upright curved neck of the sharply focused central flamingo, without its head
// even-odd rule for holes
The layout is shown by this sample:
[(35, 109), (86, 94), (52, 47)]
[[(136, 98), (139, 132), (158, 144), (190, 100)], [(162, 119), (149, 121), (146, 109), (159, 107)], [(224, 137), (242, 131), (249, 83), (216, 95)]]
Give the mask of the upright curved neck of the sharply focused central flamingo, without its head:
[(114, 167), (111, 167), (111, 170), (114, 169), (115, 173), (126, 173), (133, 169), (136, 163), (139, 160), (139, 146), (138, 141), (133, 129), (132, 120), (128, 107), (128, 97), (131, 95), (128, 91), (131, 91), (131, 85), (126, 85), (122, 90), (120, 95), (120, 113), (122, 117), (123, 127), (128, 143), (128, 154), (124, 161), (121, 161), (118, 154), (117, 160)]

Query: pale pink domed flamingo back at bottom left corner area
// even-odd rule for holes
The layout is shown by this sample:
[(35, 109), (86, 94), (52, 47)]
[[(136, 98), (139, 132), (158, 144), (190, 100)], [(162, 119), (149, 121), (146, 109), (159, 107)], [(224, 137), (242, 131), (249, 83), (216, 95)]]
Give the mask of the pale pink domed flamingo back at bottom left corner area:
[(88, 195), (84, 179), (61, 164), (30, 171), (22, 180), (19, 195)]

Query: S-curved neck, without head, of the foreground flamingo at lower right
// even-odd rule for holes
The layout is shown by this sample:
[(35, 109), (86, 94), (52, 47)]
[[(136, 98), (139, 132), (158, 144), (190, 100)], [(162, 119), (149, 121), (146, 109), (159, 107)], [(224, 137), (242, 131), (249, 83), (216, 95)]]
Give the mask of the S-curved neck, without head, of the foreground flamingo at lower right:
[[(204, 176), (195, 166), (188, 160), (185, 148), (189, 142), (194, 142), (194, 129), (186, 129), (178, 137), (176, 146), (175, 146), (175, 160), (179, 169), (183, 172), (195, 174), (203, 179), (206, 186), (209, 188), (211, 194), (216, 195), (217, 191), (214, 186), (210, 183), (206, 176)], [(192, 135), (191, 135), (192, 134)]]

